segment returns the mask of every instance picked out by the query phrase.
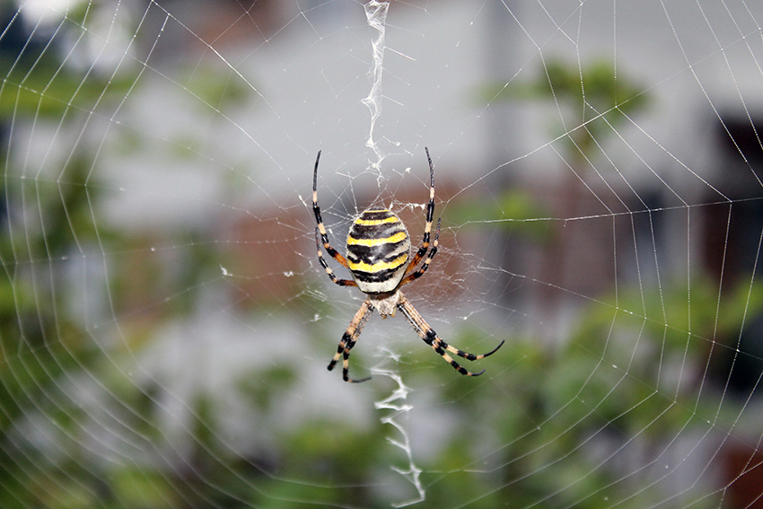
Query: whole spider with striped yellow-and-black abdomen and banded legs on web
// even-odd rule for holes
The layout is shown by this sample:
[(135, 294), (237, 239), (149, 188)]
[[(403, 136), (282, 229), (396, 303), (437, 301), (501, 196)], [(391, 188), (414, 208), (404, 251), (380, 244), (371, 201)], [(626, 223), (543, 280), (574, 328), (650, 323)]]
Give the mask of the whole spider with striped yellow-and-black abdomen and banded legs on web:
[[(315, 221), (318, 224), (315, 228), (315, 244), (318, 248), (320, 265), (323, 266), (326, 274), (335, 284), (356, 286), (367, 295), (364, 303), (361, 304), (360, 309), (350, 321), (349, 327), (342, 335), (337, 354), (329, 363), (329, 371), (331, 371), (339, 359), (344, 357), (342, 378), (345, 382), (365, 382), (371, 378), (370, 376), (359, 380), (350, 378), (349, 358), (350, 350), (355, 347), (355, 343), (366, 322), (371, 318), (373, 310), (378, 311), (382, 318), (395, 316), (395, 311), (399, 310), (427, 345), (442, 355), (445, 362), (451, 364), (456, 371), (468, 376), (478, 376), (485, 373), (485, 370), (470, 373), (453, 360), (448, 352), (459, 355), (468, 361), (476, 361), (487, 357), (487, 355), (495, 354), (498, 348), (504, 345), (504, 341), (501, 341), (496, 348), (483, 355), (469, 354), (448, 345), (437, 336), (437, 333), (429, 327), (424, 318), (413, 307), (413, 304), (400, 292), (401, 286), (408, 285), (408, 283), (424, 276), (426, 269), (429, 268), (434, 255), (437, 253), (437, 241), (440, 238), (440, 219), (437, 219), (437, 230), (434, 233), (432, 250), (429, 250), (432, 219), (434, 217), (434, 166), (432, 158), (429, 156), (429, 149), (425, 147), (425, 151), (426, 159), (429, 162), (429, 205), (426, 206), (424, 241), (410, 261), (408, 261), (408, 257), (411, 244), (405, 224), (400, 221), (397, 215), (386, 208), (369, 208), (355, 219), (347, 235), (346, 257), (331, 247), (329, 235), (326, 233), (326, 226), (320, 217), (320, 207), (318, 206), (320, 151), (318, 151), (318, 157), (315, 158), (315, 170), (312, 174), (312, 212), (315, 214)], [(336, 259), (342, 267), (349, 269), (352, 279), (339, 279), (334, 274), (326, 259), (323, 258), (323, 253), (320, 250), (321, 244), (331, 258)], [(427, 250), (429, 251), (428, 255), (426, 254)], [(426, 258), (424, 259), (425, 255)], [(424, 259), (424, 263), (417, 269), (417, 265), (422, 259)]]

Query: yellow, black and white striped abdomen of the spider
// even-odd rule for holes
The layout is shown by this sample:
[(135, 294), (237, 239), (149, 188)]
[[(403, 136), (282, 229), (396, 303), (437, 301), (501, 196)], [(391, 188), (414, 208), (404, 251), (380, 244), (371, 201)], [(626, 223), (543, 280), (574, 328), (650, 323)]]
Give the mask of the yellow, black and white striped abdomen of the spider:
[(347, 235), (347, 263), (366, 294), (394, 291), (408, 268), (409, 251), (405, 224), (386, 208), (366, 210)]

